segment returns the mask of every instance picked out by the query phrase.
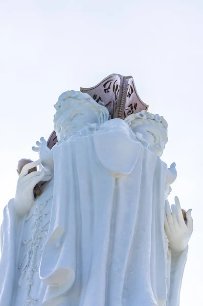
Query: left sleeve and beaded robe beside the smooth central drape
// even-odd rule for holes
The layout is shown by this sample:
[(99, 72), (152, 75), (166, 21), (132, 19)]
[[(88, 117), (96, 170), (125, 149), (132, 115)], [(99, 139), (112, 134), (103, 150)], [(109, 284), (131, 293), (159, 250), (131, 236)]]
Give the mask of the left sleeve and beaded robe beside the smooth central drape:
[(47, 239), (52, 208), (53, 183), (42, 187), (30, 212), (17, 217), (13, 200), (4, 210), (0, 305), (41, 305), (47, 285), (39, 278), (41, 252)]

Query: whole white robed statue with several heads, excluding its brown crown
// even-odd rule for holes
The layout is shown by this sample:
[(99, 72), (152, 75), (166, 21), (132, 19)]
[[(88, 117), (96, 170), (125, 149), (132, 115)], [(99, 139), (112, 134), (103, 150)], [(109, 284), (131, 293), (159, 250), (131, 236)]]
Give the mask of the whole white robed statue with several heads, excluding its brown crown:
[(166, 201), (176, 178), (160, 159), (166, 121), (108, 120), (75, 91), (55, 108), (58, 142), (33, 147), (40, 159), (4, 210), (0, 306), (178, 306), (192, 218)]

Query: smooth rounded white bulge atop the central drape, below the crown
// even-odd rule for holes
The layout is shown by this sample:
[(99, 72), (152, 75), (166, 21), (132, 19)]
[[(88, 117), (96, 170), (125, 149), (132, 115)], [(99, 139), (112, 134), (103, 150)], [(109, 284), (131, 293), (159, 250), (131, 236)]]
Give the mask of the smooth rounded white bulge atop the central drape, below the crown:
[(137, 162), (141, 143), (121, 119), (103, 123), (94, 133), (94, 146), (100, 163), (115, 174), (128, 174)]

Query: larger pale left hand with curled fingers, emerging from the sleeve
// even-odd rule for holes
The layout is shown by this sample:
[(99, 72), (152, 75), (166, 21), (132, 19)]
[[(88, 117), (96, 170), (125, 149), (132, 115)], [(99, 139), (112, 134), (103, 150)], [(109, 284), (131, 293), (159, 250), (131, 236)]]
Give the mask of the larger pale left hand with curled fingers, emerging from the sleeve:
[(19, 174), (14, 198), (14, 206), (19, 216), (23, 216), (30, 211), (35, 200), (33, 192), (35, 185), (40, 181), (47, 182), (52, 179), (52, 176), (46, 174), (45, 171), (28, 173), (30, 169), (38, 166), (40, 163), (41, 160), (39, 159), (36, 162), (25, 165)]

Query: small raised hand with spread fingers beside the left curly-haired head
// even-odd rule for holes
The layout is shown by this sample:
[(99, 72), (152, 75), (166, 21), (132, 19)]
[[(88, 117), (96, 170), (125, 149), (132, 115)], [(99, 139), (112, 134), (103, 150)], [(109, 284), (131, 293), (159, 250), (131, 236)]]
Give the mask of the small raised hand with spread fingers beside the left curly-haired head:
[(47, 146), (47, 141), (41, 137), (40, 141), (36, 142), (37, 147), (33, 146), (32, 150), (38, 152), (39, 158), (41, 159), (41, 165), (43, 168), (49, 172), (54, 172), (54, 160), (53, 160), (53, 152)]

